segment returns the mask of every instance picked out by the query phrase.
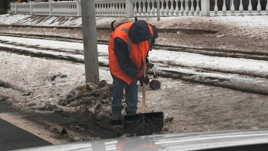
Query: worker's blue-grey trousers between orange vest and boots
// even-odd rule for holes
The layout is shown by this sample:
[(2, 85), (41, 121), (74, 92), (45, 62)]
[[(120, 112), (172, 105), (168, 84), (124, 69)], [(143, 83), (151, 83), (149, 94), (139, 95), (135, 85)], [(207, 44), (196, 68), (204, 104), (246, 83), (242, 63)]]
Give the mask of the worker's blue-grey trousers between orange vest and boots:
[(113, 102), (112, 112), (121, 113), (123, 108), (123, 90), (125, 89), (125, 103), (126, 103), (126, 114), (136, 113), (138, 104), (138, 86), (137, 81), (134, 80), (130, 85), (127, 85), (122, 80), (113, 79)]

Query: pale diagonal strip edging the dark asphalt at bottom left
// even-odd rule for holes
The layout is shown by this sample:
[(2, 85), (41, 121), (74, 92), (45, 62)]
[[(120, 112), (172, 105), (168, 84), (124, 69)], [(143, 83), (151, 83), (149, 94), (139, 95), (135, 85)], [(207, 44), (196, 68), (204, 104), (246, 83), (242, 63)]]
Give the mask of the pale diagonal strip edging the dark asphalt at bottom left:
[(52, 136), (54, 135), (52, 132), (43, 130), (43, 128), (41, 128), (38, 125), (33, 124), (32, 122), (23, 119), (19, 113), (0, 113), (0, 118), (2, 118), (3, 120), (21, 128), (24, 129), (52, 144), (62, 144), (65, 141), (62, 140), (57, 140), (55, 138), (53, 138)]

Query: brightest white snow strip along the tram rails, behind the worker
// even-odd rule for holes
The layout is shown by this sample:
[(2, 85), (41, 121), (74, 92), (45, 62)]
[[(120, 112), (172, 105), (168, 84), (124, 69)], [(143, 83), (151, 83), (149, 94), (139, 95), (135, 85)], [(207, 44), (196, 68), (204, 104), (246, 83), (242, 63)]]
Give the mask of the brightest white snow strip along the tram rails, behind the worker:
[[(57, 49), (66, 50), (68, 52), (83, 52), (82, 43), (74, 42), (63, 42), (63, 41), (52, 41), (52, 40), (41, 40), (41, 39), (30, 39), (30, 38), (19, 38), (19, 37), (8, 37), (0, 36), (0, 39), (5, 39), (8, 43), (17, 43), (25, 46), (37, 46), (43, 49)], [(8, 46), (6, 44), (0, 44), (0, 46)], [(9, 45), (8, 47), (13, 47)], [(16, 46), (18, 48), (18, 46)], [(46, 52), (43, 50), (36, 50), (33, 48), (21, 48), (28, 49), (33, 52), (42, 53), (53, 53), (54, 55), (65, 55), (62, 52)], [(108, 46), (98, 45), (98, 53), (101, 56), (100, 61), (108, 64)], [(83, 58), (83, 55), (68, 54), (71, 56), (78, 56), (79, 59)], [(106, 57), (105, 57), (105, 56)], [(220, 71), (229, 72), (245, 72), (254, 75), (259, 75), (261, 77), (268, 76), (268, 61), (253, 60), (253, 59), (243, 59), (243, 58), (229, 58), (229, 57), (216, 57), (207, 56), (202, 54), (187, 53), (187, 52), (174, 52), (167, 50), (153, 50), (149, 54), (150, 60), (152, 62), (161, 62), (168, 65), (183, 65), (189, 67), (201, 67), (201, 68), (212, 68)]]

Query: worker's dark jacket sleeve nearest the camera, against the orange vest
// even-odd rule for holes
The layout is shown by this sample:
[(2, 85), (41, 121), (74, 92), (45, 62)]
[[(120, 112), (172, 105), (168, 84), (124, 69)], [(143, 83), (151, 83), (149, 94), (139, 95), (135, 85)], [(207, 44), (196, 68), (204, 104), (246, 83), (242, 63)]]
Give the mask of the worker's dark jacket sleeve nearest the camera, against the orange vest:
[(141, 71), (130, 61), (127, 43), (119, 37), (114, 39), (114, 54), (120, 68), (130, 77), (136, 78)]

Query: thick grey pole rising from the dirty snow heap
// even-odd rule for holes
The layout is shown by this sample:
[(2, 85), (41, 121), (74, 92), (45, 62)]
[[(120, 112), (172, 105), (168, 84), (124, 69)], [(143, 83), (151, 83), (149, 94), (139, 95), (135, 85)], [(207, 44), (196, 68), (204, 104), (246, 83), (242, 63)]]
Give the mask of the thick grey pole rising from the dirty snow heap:
[(99, 61), (94, 0), (81, 0), (81, 16), (84, 44), (85, 82), (99, 84)]

